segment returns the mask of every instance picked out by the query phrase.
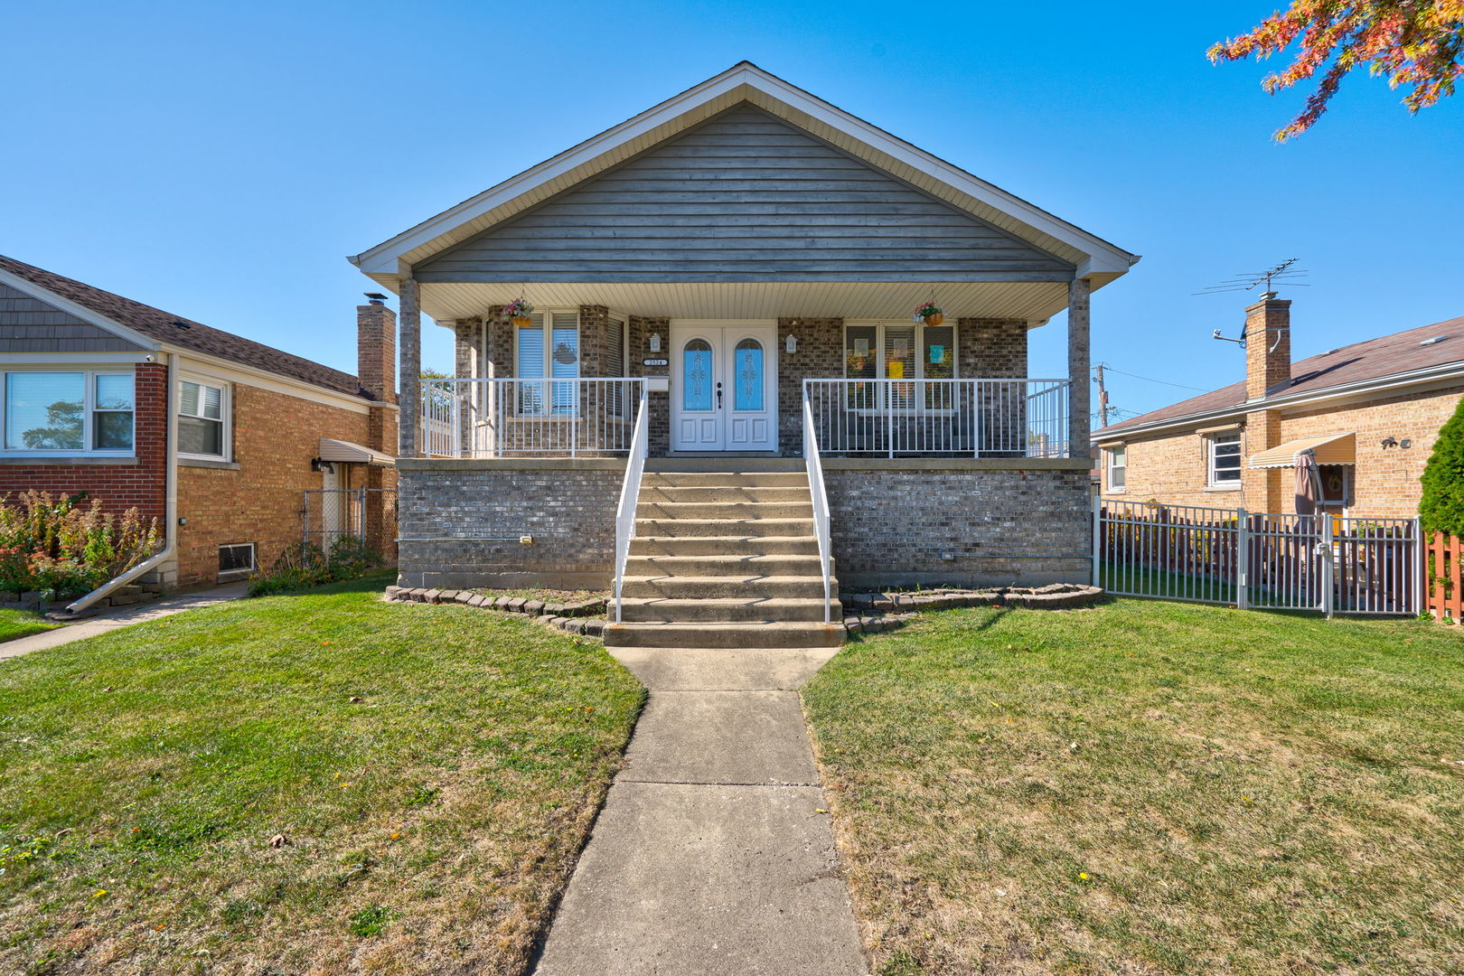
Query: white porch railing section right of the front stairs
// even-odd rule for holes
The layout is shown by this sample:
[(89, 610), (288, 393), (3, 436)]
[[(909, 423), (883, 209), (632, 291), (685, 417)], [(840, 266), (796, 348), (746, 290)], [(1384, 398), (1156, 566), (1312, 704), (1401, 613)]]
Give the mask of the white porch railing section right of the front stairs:
[(823, 454), (1066, 458), (1066, 379), (805, 379)]

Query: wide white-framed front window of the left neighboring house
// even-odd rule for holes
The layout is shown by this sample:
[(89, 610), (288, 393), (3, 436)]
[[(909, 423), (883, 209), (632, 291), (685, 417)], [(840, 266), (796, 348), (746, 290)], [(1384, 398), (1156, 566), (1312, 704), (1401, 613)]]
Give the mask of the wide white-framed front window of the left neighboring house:
[(132, 451), (132, 373), (12, 372), (4, 382), (4, 449), (126, 454)]

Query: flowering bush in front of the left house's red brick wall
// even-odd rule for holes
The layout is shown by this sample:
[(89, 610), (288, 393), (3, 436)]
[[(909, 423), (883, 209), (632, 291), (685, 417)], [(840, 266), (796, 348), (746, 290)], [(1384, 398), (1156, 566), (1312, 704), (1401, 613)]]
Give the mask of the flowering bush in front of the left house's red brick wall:
[(50, 597), (89, 593), (157, 552), (158, 519), (108, 515), (86, 493), (0, 496), (0, 590)]

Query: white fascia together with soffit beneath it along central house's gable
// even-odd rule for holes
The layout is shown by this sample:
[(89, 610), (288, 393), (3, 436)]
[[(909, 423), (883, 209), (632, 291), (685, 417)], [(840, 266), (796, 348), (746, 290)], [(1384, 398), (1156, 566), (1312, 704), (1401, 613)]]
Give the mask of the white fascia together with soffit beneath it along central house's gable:
[(918, 149), (748, 61), (504, 180), (350, 260), (379, 284), (395, 290), (403, 265), (416, 265), (742, 101), (807, 129), (845, 152), (1073, 262), (1079, 266), (1079, 274), (1091, 277), (1095, 285), (1113, 281), (1138, 260), (1136, 255)]

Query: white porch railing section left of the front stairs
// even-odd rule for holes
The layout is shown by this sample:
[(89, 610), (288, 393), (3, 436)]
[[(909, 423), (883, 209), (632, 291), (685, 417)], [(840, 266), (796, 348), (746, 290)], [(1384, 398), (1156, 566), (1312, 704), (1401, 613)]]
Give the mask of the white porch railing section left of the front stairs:
[(429, 458), (627, 454), (641, 378), (425, 379), (422, 445)]

